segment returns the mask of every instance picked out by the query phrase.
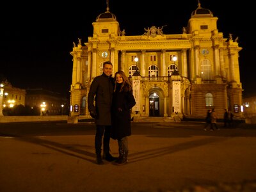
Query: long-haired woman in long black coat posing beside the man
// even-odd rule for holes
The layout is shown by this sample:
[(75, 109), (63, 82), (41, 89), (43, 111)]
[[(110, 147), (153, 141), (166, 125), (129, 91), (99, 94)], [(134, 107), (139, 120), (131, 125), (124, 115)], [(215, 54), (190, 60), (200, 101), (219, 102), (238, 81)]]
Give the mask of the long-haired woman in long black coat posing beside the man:
[(125, 73), (119, 70), (114, 79), (111, 138), (118, 141), (119, 157), (116, 164), (125, 164), (128, 157), (127, 136), (131, 135), (131, 108), (136, 102), (132, 95), (132, 84)]

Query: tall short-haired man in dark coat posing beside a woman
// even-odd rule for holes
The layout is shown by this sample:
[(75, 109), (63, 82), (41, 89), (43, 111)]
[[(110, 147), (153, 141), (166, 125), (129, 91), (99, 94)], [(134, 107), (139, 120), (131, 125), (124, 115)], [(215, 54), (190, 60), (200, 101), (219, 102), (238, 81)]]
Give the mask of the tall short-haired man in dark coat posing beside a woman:
[[(102, 159), (114, 161), (116, 158), (111, 156), (109, 141), (111, 130), (111, 104), (113, 97), (114, 78), (111, 77), (113, 65), (110, 61), (103, 63), (103, 73), (93, 79), (88, 93), (88, 110), (92, 118), (95, 118), (95, 153), (96, 163), (104, 164)], [(94, 105), (95, 101), (95, 105)], [(103, 138), (103, 157), (101, 156), (102, 136)]]

